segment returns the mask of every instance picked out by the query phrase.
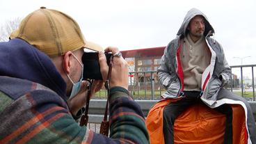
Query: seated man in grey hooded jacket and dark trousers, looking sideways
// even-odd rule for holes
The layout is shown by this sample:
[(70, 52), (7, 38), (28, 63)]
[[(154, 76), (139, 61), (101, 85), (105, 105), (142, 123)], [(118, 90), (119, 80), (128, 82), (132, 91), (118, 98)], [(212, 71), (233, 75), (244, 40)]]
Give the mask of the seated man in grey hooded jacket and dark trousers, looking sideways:
[[(232, 143), (232, 107), (240, 104), (246, 117), (246, 142), (256, 143), (255, 120), (245, 99), (222, 87), (230, 79), (231, 70), (223, 48), (210, 38), (214, 29), (205, 14), (189, 10), (177, 38), (166, 47), (158, 72), (160, 83), (167, 89), (163, 99), (173, 102), (163, 105), (163, 137), (174, 143), (175, 119), (189, 106), (203, 103), (225, 115), (224, 143)], [(234, 121), (233, 121), (234, 122)], [(149, 125), (149, 124), (148, 124)], [(209, 129), (211, 131), (211, 129)]]

